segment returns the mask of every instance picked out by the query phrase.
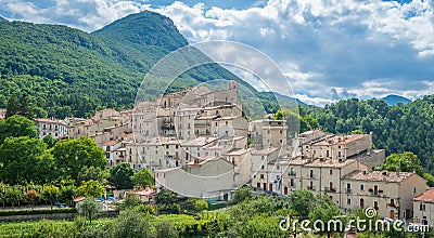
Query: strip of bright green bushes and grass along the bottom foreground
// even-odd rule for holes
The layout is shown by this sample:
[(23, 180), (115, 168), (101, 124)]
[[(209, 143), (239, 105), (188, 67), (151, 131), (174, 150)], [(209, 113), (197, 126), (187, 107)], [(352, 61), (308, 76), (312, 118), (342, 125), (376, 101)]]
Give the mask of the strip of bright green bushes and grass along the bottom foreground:
[[(238, 191), (235, 191), (238, 193)], [(245, 190), (242, 191), (245, 195)], [(130, 202), (123, 207), (116, 219), (92, 220), (78, 216), (75, 221), (65, 222), (25, 222), (0, 224), (0, 236), (38, 236), (43, 237), (342, 237), (346, 222), (352, 217), (375, 222), (378, 216), (366, 217), (359, 209), (352, 214), (344, 214), (331, 199), (322, 194), (312, 195), (309, 190), (297, 190), (290, 199), (277, 199), (266, 195), (253, 195), (237, 204), (219, 211), (202, 211), (196, 215), (159, 214), (148, 212), (148, 204)], [(239, 196), (240, 197), (240, 196)], [(243, 197), (243, 196), (241, 196)], [(133, 200), (131, 197), (130, 200)], [(189, 199), (190, 200), (190, 199)], [(191, 199), (191, 202), (203, 201)], [(299, 206), (305, 204), (306, 206)], [(190, 201), (189, 201), (190, 202)], [(316, 220), (335, 220), (341, 217), (342, 226), (336, 226), (324, 233), (303, 232), (299, 224), (281, 221), (308, 220), (309, 228), (314, 228)], [(290, 221), (290, 222), (291, 222)], [(363, 232), (358, 237), (413, 237), (420, 234), (394, 232)], [(432, 234), (425, 234), (430, 236)]]

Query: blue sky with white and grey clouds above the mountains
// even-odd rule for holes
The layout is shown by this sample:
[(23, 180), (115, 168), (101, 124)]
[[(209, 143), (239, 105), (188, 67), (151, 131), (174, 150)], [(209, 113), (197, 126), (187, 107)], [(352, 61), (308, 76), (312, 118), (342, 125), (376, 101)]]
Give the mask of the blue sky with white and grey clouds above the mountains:
[(9, 19), (86, 31), (143, 10), (169, 16), (191, 43), (258, 49), (306, 103), (434, 93), (434, 0), (0, 0)]

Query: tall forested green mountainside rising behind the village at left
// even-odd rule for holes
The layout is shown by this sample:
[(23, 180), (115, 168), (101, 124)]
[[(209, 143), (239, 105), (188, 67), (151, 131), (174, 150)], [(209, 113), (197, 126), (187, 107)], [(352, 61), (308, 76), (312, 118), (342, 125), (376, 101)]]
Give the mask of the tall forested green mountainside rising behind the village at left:
[[(148, 11), (92, 34), (59, 25), (1, 22), (0, 108), (7, 107), (11, 95), (29, 101), (37, 117), (84, 117), (103, 107), (130, 107), (145, 72), (187, 44), (169, 18)], [(192, 55), (205, 57), (194, 49)], [(221, 78), (235, 79), (259, 95), (216, 64), (181, 75), (169, 91)], [(148, 83), (150, 92), (163, 92), (167, 84), (164, 79)], [(150, 93), (149, 100), (156, 95)], [(269, 96), (264, 101), (273, 102)]]

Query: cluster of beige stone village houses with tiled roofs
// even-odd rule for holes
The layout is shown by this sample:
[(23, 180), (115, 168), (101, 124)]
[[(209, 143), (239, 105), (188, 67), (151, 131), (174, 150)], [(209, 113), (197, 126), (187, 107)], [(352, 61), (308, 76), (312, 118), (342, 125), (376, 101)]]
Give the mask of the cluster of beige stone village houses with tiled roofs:
[(218, 91), (199, 85), (169, 93), (130, 110), (97, 111), (89, 119), (37, 122), (41, 137), (92, 137), (108, 167), (146, 168), (158, 187), (186, 196), (226, 200), (245, 184), (280, 196), (309, 189), (347, 211), (374, 208), (381, 217), (432, 222), (434, 191), (425, 191), (426, 181), (416, 173), (374, 171), (385, 154), (372, 149), (371, 134), (315, 129), (289, 140), (294, 132), (284, 120), (247, 120), (234, 81)]

